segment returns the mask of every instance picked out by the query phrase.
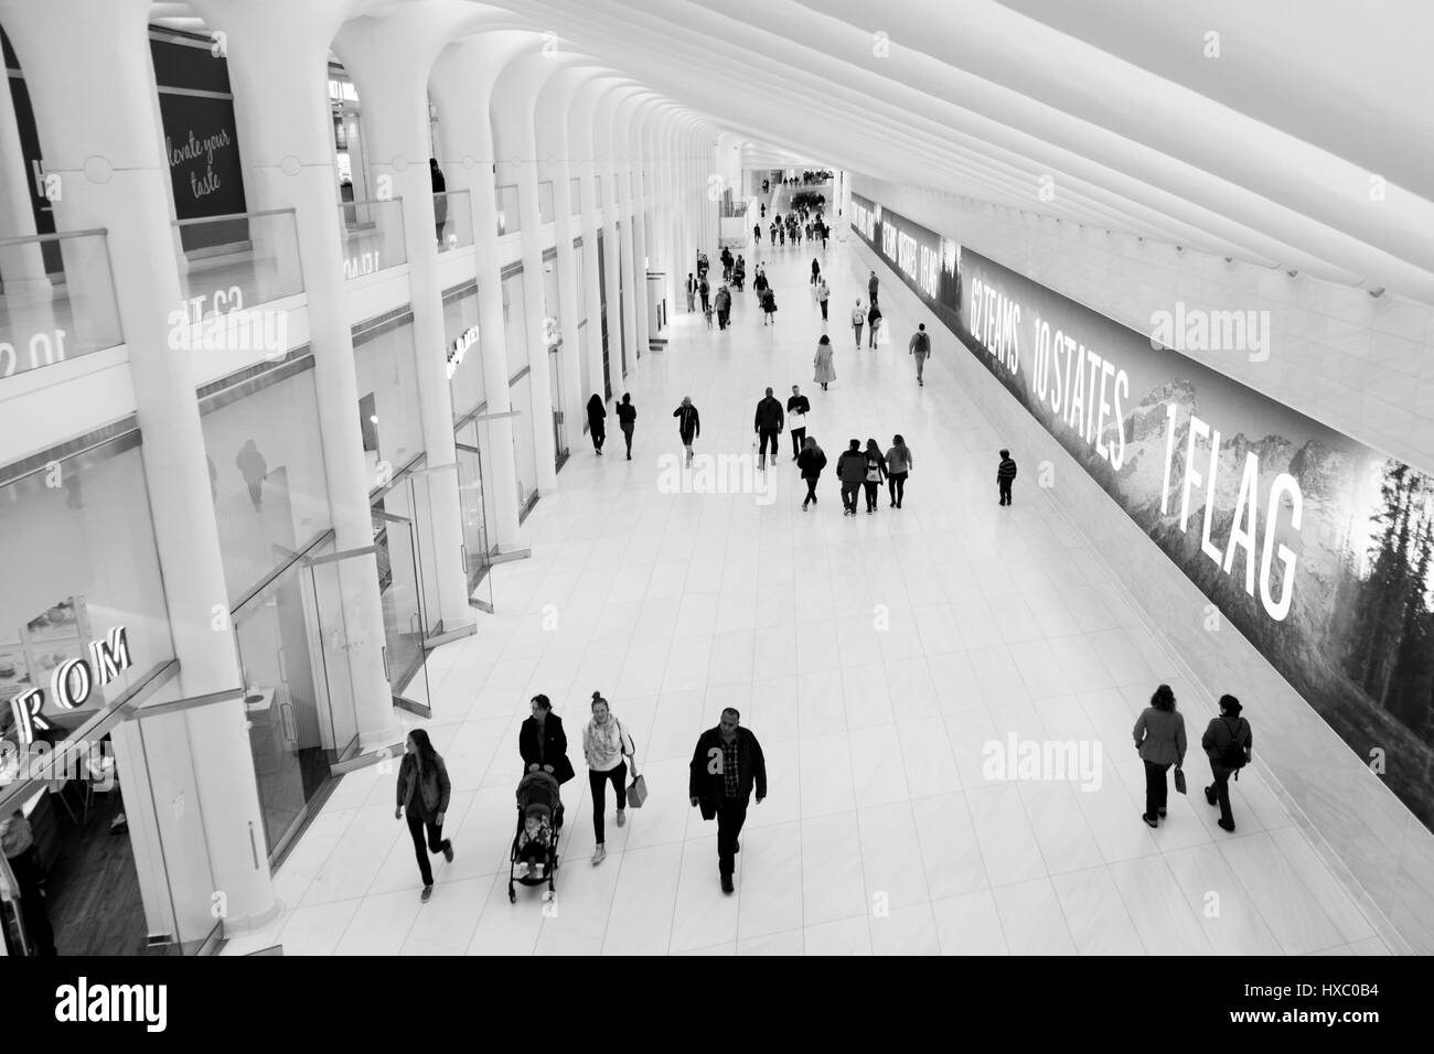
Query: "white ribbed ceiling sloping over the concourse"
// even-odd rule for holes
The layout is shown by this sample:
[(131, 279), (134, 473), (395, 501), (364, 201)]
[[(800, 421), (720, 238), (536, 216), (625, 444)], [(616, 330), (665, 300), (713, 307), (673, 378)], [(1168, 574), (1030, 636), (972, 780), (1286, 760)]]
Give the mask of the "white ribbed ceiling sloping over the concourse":
[(733, 133), (754, 166), (839, 166), (1434, 303), (1430, 0), (357, 9), (556, 34)]

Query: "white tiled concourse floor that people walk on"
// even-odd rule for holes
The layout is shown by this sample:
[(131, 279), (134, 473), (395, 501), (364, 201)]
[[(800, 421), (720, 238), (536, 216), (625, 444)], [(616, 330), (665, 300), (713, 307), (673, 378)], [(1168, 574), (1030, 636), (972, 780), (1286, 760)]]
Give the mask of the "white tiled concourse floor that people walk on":
[[(241, 954), (1381, 954), (1355, 901), (1263, 783), (1232, 784), (1239, 830), (1215, 826), (1189, 759), (1160, 830), (1140, 822), (1130, 727), (1170, 683), (1192, 739), (1210, 700), (1186, 684), (1121, 599), (1090, 543), (1027, 472), (995, 502), (1001, 436), (955, 389), (945, 337), (923, 389), (905, 340), (853, 351), (845, 320), (865, 300), (836, 242), (837, 381), (809, 383), (820, 333), (807, 295), (812, 251), (764, 250), (780, 311), (763, 328), (750, 293), (734, 327), (678, 315), (668, 350), (630, 377), (631, 462), (621, 433), (594, 456), (581, 436), (526, 523), (533, 556), (495, 572), (498, 615), (430, 663), (435, 744), (455, 793), (452, 865), (419, 902), (393, 774), (343, 783), (280, 869), (282, 918), (231, 941)], [(697, 317), (700, 323), (700, 317)], [(909, 326), (888, 315), (896, 334)], [(946, 360), (946, 361), (944, 361)], [(835, 466), (850, 436), (906, 436), (915, 470), (902, 511), (840, 515), (829, 472), (820, 505), (787, 460), (776, 502), (665, 495), (663, 453), (683, 394), (703, 413), (698, 452), (746, 453), (761, 389), (797, 381)], [(1012, 413), (1015, 410), (1012, 404)], [(1015, 452), (1020, 460), (1021, 452)], [(1027, 466), (1028, 467), (1028, 466)], [(543, 630), (545, 605), (558, 628)], [(878, 628), (886, 627), (886, 628)], [(569, 822), (555, 905), (519, 888), (508, 846), (518, 726), (546, 693), (581, 769), (587, 700), (599, 690), (634, 733), (652, 797), (591, 866), (587, 779), (566, 786)], [(769, 799), (743, 833), (734, 896), (717, 883), (716, 826), (687, 804), (687, 760), (734, 706), (761, 740)], [(1098, 789), (989, 780), (982, 747), (1098, 743)]]

